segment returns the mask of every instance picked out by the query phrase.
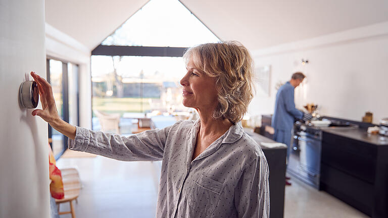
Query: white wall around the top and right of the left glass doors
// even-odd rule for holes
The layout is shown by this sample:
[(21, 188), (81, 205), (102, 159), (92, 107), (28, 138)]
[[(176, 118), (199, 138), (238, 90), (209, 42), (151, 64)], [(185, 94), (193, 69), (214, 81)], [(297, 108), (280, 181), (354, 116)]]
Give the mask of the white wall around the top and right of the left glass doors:
[(45, 24), (46, 55), (79, 65), (79, 126), (91, 129), (90, 55), (85, 45)]

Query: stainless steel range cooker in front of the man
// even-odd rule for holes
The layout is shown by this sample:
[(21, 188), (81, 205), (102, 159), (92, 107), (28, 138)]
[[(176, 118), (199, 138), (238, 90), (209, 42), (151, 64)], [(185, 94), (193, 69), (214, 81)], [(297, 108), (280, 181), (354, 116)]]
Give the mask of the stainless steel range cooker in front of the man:
[(358, 126), (333, 120), (327, 127), (316, 127), (311, 123), (296, 122), (290, 144), (287, 172), (319, 189), (322, 130), (333, 128), (358, 128)]

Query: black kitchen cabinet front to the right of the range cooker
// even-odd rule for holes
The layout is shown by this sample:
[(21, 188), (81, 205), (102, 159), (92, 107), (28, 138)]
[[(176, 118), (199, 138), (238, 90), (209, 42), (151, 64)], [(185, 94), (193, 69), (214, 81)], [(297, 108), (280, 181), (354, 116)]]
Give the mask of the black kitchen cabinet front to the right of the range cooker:
[(324, 131), (320, 189), (371, 217), (388, 217), (388, 146)]

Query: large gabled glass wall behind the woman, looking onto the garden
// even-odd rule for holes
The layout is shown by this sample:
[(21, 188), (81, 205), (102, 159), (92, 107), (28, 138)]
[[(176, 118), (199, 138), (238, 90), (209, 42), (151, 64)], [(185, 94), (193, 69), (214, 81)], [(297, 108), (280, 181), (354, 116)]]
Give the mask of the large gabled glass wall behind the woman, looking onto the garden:
[(151, 0), (92, 51), (92, 128), (103, 121), (129, 134), (132, 118), (187, 115), (179, 84), (184, 49), (217, 41), (179, 1)]

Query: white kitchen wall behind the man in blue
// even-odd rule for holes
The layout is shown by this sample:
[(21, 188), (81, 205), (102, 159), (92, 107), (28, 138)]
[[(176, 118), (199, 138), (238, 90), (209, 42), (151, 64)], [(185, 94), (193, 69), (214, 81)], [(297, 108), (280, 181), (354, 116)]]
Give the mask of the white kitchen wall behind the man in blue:
[[(388, 117), (388, 22), (253, 51), (256, 66), (271, 66), (269, 97), (255, 97), (251, 115), (272, 114), (275, 84), (296, 71), (307, 81), (296, 89), (297, 106), (316, 103), (320, 114), (373, 122)], [(301, 60), (309, 64), (302, 65)]]

